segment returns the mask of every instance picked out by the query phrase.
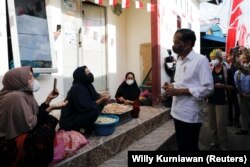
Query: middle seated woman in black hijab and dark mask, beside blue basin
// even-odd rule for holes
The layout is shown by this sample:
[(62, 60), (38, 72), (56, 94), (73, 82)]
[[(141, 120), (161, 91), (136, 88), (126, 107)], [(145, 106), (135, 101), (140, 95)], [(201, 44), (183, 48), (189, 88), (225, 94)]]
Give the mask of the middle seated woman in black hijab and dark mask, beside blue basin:
[(73, 79), (66, 98), (68, 105), (61, 110), (60, 129), (90, 135), (109, 96), (96, 92), (92, 85), (94, 76), (87, 66), (78, 67), (73, 72)]

